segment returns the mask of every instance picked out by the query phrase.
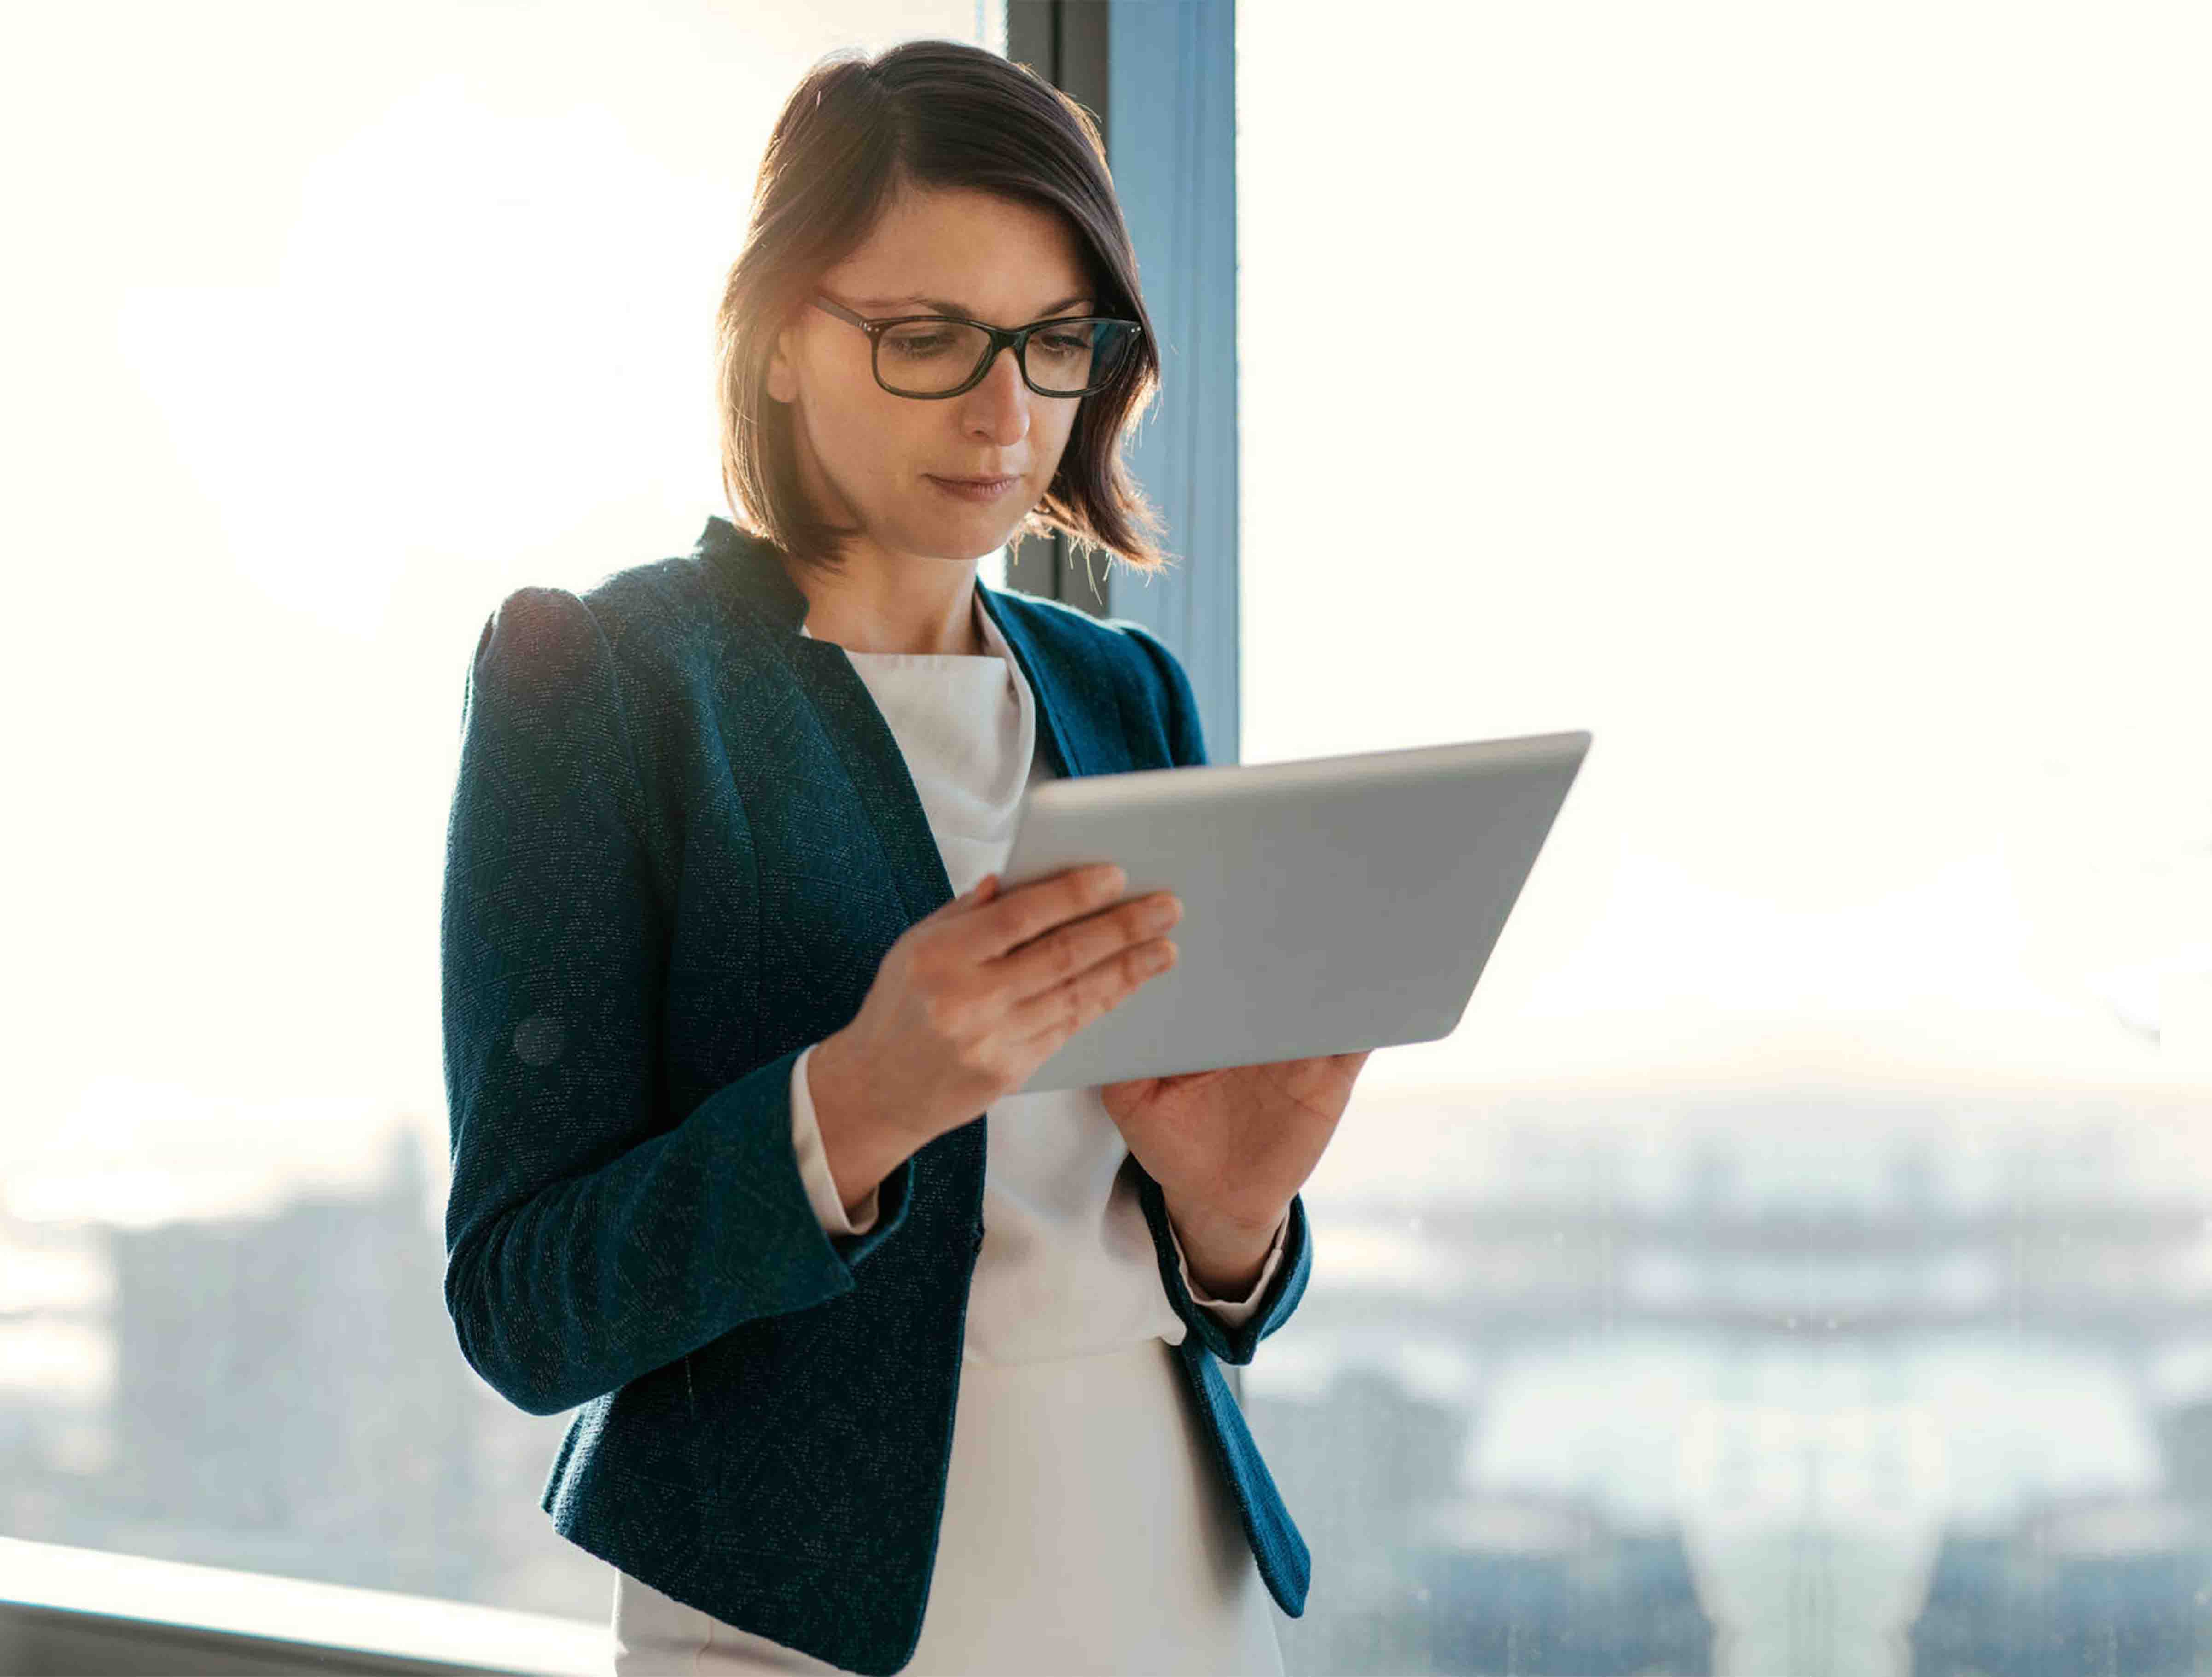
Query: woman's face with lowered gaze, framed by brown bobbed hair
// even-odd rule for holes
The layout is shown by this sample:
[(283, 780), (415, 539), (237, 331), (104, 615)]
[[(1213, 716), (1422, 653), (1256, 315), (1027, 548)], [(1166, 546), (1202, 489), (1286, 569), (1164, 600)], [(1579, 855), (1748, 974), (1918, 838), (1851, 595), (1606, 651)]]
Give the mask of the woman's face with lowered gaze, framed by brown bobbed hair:
[[(1082, 243), (1060, 215), (969, 190), (905, 195), (818, 290), (867, 319), (1029, 325), (1097, 312)], [(960, 396), (894, 396), (869, 369), (867, 334), (812, 305), (781, 332), (768, 394), (792, 407), (799, 473), (821, 515), (858, 524), (860, 549), (940, 560), (1006, 544), (1051, 487), (1082, 400), (1037, 396), (1011, 350)], [(1015, 482), (991, 500), (933, 482), (991, 476)]]

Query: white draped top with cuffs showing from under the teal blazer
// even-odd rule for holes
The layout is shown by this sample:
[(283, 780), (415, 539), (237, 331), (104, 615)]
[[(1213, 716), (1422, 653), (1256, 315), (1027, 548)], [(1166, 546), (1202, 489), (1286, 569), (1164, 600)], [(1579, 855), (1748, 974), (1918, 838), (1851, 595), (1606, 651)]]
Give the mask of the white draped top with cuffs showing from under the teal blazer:
[[(1053, 777), (1037, 750), (1037, 706), (1020, 662), (971, 595), (984, 657), (951, 653), (854, 653), (907, 759), (929, 832), (945, 858), (953, 896), (1004, 867), (1022, 792)], [(805, 635), (805, 626), (799, 628)], [(812, 639), (812, 635), (810, 635)], [(876, 1195), (845, 1217), (845, 1204), (823, 1157), (814, 1097), (807, 1086), (810, 1046), (792, 1066), (792, 1146), (814, 1215), (832, 1235), (865, 1235), (876, 1223)], [(982, 1252), (969, 1283), (964, 1356), (987, 1363), (1042, 1363), (1190, 1332), (1166, 1290), (1152, 1235), (1137, 1204), (1128, 1144), (1099, 1091), (1046, 1089), (1006, 1095), (987, 1111)], [(1274, 1230), (1267, 1263), (1241, 1301), (1217, 1301), (1190, 1277), (1194, 1303), (1223, 1327), (1243, 1325), (1259, 1308), (1283, 1261), (1290, 1217)], [(1170, 1226), (1170, 1237), (1175, 1235)], [(1181, 1259), (1181, 1241), (1175, 1241)]]

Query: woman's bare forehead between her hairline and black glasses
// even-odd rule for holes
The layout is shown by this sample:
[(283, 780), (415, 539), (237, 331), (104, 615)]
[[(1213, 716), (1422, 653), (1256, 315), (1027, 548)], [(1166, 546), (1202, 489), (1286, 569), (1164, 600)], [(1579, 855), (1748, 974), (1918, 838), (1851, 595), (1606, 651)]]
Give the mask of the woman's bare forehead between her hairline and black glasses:
[(847, 299), (938, 296), (980, 319), (1022, 316), (1086, 294), (1091, 263), (1057, 210), (993, 192), (909, 190), (823, 274)]

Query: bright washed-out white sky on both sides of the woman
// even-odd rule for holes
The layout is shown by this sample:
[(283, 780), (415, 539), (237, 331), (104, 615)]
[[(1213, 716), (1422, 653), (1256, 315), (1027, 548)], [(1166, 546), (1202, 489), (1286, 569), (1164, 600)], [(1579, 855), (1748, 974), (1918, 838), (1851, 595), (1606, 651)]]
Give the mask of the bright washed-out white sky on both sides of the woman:
[[(2208, 15), (1239, 18), (1243, 759), (1597, 741), (1371, 1084), (2212, 1089)], [(442, 1157), (476, 631), (688, 549), (776, 102), (975, 31), (11, 18), (0, 1166)]]

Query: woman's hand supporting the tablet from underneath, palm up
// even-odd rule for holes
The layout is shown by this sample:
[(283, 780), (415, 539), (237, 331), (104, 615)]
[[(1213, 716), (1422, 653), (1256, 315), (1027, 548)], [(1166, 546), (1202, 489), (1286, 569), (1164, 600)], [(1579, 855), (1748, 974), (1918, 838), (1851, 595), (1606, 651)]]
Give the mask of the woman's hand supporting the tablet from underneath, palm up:
[(1135, 1077), (1099, 1084), (1099, 1100), (1179, 1226), (1270, 1232), (1336, 1135), (1369, 1053)]

